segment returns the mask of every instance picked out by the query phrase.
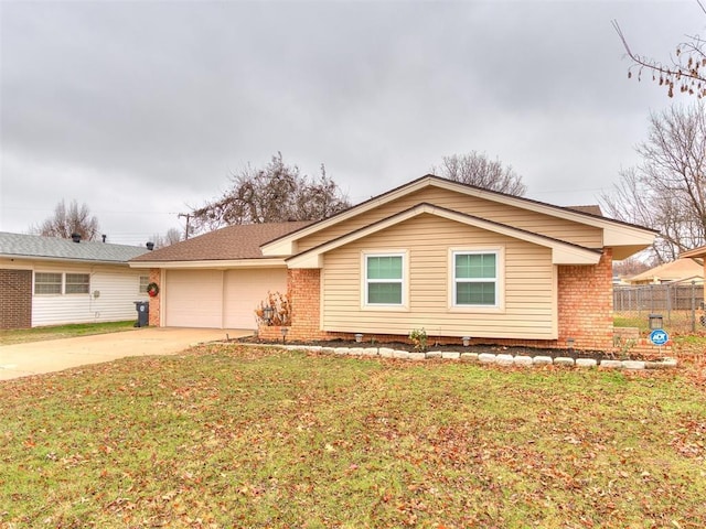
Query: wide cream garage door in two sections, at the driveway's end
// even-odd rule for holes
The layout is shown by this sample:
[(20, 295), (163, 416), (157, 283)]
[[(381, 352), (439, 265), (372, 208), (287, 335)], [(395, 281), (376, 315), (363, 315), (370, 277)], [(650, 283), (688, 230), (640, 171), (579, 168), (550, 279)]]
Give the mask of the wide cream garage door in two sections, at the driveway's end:
[(256, 328), (267, 292), (287, 291), (286, 269), (168, 270), (169, 327)]

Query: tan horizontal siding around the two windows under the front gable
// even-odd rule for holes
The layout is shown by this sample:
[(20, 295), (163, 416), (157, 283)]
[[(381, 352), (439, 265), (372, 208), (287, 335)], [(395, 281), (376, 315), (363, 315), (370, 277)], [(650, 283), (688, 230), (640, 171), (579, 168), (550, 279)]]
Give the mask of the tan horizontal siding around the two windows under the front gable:
[[(495, 248), (505, 255), (501, 312), (449, 310), (449, 249)], [(408, 311), (361, 307), (361, 256), (368, 250), (409, 251)], [(406, 335), (553, 338), (554, 271), (549, 249), (422, 215), (325, 255), (323, 330)]]

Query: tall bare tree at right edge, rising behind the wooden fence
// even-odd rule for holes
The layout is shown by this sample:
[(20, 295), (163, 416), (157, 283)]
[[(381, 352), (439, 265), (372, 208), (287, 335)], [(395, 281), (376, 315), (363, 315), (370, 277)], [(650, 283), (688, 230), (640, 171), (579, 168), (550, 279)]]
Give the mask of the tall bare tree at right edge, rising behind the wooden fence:
[(642, 162), (620, 173), (601, 204), (614, 218), (657, 229), (657, 262), (706, 244), (706, 108), (703, 102), (650, 116)]

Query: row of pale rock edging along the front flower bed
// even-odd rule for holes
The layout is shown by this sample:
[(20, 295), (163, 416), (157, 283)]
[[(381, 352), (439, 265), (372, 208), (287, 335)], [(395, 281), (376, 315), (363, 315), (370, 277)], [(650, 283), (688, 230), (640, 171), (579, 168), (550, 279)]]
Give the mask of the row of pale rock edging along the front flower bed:
[(255, 347), (279, 347), (290, 350), (308, 350), (312, 353), (322, 353), (338, 356), (355, 356), (355, 357), (381, 357), (395, 358), (403, 360), (457, 360), (472, 364), (495, 364), (499, 366), (561, 366), (577, 368), (602, 368), (602, 369), (625, 369), (625, 370), (644, 370), (644, 369), (670, 369), (677, 366), (676, 358), (663, 358), (660, 360), (616, 360), (595, 358), (570, 358), (557, 356), (537, 355), (509, 355), (494, 353), (454, 353), (448, 350), (429, 350), (426, 353), (408, 352), (393, 349), (389, 347), (324, 347), (319, 345), (287, 345), (287, 344), (244, 344)]

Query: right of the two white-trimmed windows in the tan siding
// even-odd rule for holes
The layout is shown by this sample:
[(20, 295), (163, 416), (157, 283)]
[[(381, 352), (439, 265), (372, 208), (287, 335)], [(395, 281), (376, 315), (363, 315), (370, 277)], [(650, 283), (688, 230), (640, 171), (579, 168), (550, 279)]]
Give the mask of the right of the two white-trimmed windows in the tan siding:
[(453, 305), (498, 306), (500, 304), (498, 251), (454, 251)]

